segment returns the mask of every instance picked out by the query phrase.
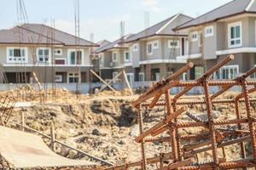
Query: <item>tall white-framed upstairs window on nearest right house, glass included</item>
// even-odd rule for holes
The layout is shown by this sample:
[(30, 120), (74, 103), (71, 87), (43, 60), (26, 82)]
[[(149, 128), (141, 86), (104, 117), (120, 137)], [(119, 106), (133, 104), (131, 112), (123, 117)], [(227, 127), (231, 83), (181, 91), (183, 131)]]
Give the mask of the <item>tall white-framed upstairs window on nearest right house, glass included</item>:
[(241, 47), (241, 22), (228, 25), (229, 48)]

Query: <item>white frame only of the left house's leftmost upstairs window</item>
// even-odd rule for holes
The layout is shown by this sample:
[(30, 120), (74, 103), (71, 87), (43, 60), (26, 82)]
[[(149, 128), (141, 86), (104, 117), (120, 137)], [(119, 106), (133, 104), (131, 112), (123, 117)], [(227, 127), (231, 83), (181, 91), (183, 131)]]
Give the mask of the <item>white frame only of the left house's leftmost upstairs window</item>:
[[(17, 60), (15, 57), (15, 49), (20, 49), (20, 59)], [(12, 54), (10, 55), (10, 50), (13, 50)], [(24, 56), (22, 56), (21, 50), (24, 50)], [(16, 60), (15, 60), (16, 59)], [(27, 48), (20, 48), (20, 47), (7, 47), (6, 48), (6, 63), (27, 63), (28, 62), (28, 49)]]

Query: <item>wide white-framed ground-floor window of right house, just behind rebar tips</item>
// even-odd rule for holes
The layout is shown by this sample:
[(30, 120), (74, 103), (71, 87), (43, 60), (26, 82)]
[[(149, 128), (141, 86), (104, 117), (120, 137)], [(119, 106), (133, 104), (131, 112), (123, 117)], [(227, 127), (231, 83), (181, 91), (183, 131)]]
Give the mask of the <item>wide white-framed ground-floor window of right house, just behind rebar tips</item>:
[(220, 79), (234, 79), (238, 76), (239, 65), (224, 65), (219, 69)]

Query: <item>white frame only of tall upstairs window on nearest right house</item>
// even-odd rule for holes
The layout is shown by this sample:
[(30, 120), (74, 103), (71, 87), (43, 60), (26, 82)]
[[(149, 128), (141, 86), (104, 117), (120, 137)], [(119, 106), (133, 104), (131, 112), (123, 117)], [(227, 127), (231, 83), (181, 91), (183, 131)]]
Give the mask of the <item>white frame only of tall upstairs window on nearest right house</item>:
[[(232, 27), (236, 27), (236, 26), (240, 26), (240, 37), (239, 38), (236, 37), (236, 38), (231, 39), (231, 28)], [(232, 41), (236, 42), (237, 40), (240, 40), (239, 44), (234, 44), (234, 45), (231, 44)], [(238, 47), (242, 46), (242, 26), (241, 26), (241, 21), (230, 23), (228, 25), (228, 43), (229, 43), (228, 44), (229, 48), (238, 48)]]

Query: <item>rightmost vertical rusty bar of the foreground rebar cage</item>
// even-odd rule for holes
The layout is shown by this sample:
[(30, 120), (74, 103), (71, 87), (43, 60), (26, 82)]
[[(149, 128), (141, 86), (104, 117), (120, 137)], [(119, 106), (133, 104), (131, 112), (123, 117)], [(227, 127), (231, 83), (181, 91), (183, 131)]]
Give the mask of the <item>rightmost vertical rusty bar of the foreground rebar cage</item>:
[(249, 130), (251, 133), (251, 139), (252, 139), (252, 146), (253, 146), (253, 162), (256, 163), (256, 137), (255, 137), (255, 126), (253, 124), (253, 117), (250, 111), (250, 102), (249, 102), (249, 96), (248, 96), (248, 90), (247, 90), (247, 82), (244, 80), (244, 82), (241, 83), (242, 88), (242, 94), (244, 96), (245, 105), (246, 105), (246, 111), (247, 111), (247, 119), (248, 119), (248, 125)]

